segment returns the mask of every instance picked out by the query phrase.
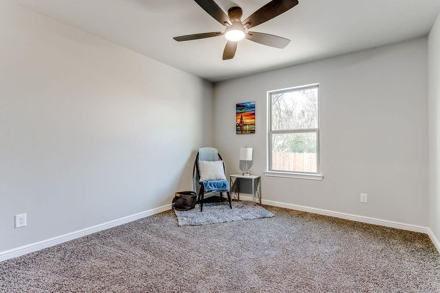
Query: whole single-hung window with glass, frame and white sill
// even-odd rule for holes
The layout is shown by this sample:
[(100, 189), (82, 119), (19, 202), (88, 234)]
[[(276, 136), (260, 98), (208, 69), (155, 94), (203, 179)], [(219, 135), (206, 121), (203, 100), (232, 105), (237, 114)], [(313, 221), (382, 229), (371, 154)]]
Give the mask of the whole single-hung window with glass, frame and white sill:
[(321, 180), (319, 85), (268, 92), (269, 176)]

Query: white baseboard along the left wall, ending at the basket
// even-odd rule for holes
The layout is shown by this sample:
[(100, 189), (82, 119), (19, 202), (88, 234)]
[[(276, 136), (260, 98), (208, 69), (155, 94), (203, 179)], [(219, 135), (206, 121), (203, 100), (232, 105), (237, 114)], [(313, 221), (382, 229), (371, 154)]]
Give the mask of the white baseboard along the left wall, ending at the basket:
[(158, 207), (155, 209), (149, 209), (149, 210), (145, 210), (145, 211), (141, 211), (139, 213), (127, 216), (127, 217), (123, 217), (123, 218), (119, 218), (116, 220), (112, 220), (110, 222), (106, 222), (106, 223), (102, 223), (99, 225), (95, 225), (92, 227), (88, 227), (85, 229), (81, 229), (81, 230), (77, 230), (74, 232), (70, 232), (64, 235), (60, 235), (60, 236), (56, 236), (50, 239), (46, 239), (43, 241), (39, 241), (39, 242), (35, 242), (35, 243), (31, 243), (28, 245), (24, 245), (22, 247), (18, 247), (18, 248), (14, 248), (8, 251), (0, 251), (0, 261), (6, 260), (6, 259), (10, 259), (10, 258), (14, 258), (23, 254), (27, 254), (29, 252), (33, 252), (33, 251), (39, 251), (41, 249), (47, 248), (47, 247), (51, 247), (69, 240), (73, 240), (82, 236), (86, 236), (88, 234), (91, 233), (95, 233), (98, 231), (102, 231), (102, 230), (106, 230), (115, 226), (119, 226), (125, 223), (129, 223), (141, 218), (145, 218), (151, 215), (154, 215), (156, 213), (171, 209), (171, 204), (162, 206), (162, 207)]

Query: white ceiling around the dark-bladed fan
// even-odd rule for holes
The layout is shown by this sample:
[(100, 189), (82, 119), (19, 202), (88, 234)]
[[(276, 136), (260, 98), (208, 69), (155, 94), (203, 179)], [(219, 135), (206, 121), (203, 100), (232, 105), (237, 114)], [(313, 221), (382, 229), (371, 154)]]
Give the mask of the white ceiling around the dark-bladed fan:
[[(269, 0), (217, 0), (240, 6), (244, 20)], [(425, 36), (439, 0), (299, 0), (253, 31), (292, 40), (276, 49), (243, 40), (222, 61), (224, 37), (176, 42), (173, 37), (223, 31), (193, 0), (15, 0), (83, 31), (160, 62), (217, 82), (268, 69)]]

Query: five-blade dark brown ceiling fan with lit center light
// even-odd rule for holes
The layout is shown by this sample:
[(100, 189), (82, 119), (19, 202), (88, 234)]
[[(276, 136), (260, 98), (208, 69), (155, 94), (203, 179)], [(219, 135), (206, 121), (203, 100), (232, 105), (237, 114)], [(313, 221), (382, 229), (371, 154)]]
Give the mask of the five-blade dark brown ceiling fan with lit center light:
[(173, 39), (177, 42), (182, 42), (224, 36), (228, 42), (224, 47), (223, 60), (234, 58), (235, 52), (237, 51), (237, 42), (243, 40), (244, 38), (266, 46), (280, 49), (285, 48), (290, 40), (274, 35), (250, 32), (247, 30), (279, 16), (299, 3), (298, 0), (272, 0), (251, 14), (247, 19), (241, 21), (243, 11), (240, 7), (234, 6), (229, 8), (228, 15), (226, 16), (226, 14), (219, 7), (219, 5), (214, 2), (214, 0), (194, 1), (196, 1), (196, 3), (216, 21), (219, 21), (222, 25), (226, 26), (226, 30), (224, 32), (180, 36)]

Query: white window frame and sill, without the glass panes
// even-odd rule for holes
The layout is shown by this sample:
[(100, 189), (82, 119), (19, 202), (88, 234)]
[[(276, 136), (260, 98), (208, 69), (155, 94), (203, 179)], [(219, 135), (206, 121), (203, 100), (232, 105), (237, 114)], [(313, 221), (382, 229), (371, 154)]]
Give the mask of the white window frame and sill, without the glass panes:
[[(272, 130), (272, 95), (280, 94), (283, 92), (300, 91), (310, 88), (318, 89), (318, 128), (310, 129), (289, 129), (289, 130)], [(287, 178), (303, 178), (303, 179), (313, 179), (322, 180), (323, 176), (319, 173), (319, 118), (320, 118), (320, 107), (319, 101), (319, 84), (307, 84), (277, 90), (271, 90), (267, 92), (267, 166), (264, 171), (266, 176), (276, 176), (276, 177), (287, 177)], [(283, 170), (272, 170), (272, 135), (280, 133), (316, 133), (316, 172), (294, 172), (294, 171), (283, 171)]]

